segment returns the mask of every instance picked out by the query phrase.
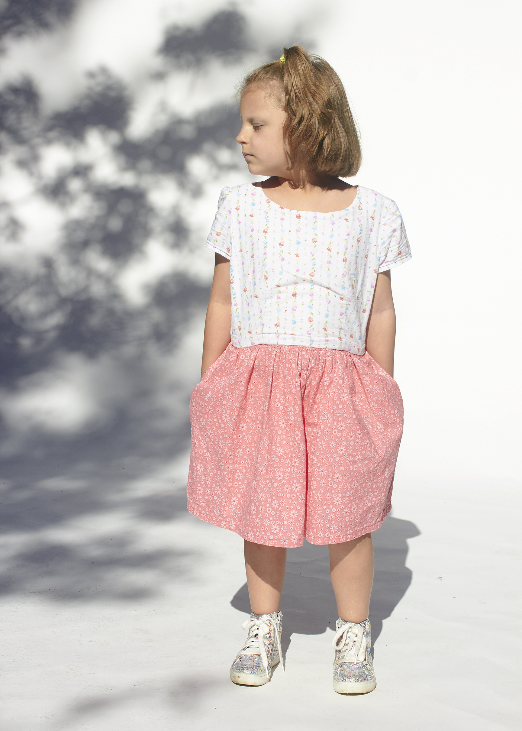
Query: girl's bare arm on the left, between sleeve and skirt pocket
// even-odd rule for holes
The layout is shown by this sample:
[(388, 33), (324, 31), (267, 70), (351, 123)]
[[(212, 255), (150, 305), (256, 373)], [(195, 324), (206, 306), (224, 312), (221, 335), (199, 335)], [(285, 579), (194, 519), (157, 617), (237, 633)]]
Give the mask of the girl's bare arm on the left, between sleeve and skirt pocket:
[(221, 254), (216, 254), (211, 298), (208, 300), (205, 335), (203, 336), (202, 376), (230, 343), (231, 307), (230, 261)]

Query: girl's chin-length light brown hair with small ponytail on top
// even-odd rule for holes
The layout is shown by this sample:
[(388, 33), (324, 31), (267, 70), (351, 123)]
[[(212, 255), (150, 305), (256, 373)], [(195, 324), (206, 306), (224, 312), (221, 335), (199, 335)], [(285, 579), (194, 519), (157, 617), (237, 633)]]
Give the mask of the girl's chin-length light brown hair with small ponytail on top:
[(284, 48), (282, 58), (246, 75), (241, 94), (251, 86), (279, 84), (289, 170), (355, 175), (362, 162), (360, 138), (341, 79), (324, 58), (301, 46)]

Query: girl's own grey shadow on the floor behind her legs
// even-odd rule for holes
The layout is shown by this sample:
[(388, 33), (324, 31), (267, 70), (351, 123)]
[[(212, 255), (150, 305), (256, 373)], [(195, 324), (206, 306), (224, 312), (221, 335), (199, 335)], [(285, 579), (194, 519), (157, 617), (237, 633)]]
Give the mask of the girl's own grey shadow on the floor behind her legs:
[[(420, 535), (409, 520), (386, 518), (372, 534), (375, 552), (374, 589), (371, 593), (370, 620), (372, 645), (382, 632), (382, 622), (390, 616), (412, 583), (412, 572), (406, 567), (406, 539)], [(240, 612), (250, 614), (246, 583), (230, 602)], [(327, 627), (335, 629), (336, 599), (330, 583), (328, 546), (305, 542), (287, 553), (287, 574), (281, 596), (284, 632), (283, 654), (293, 632), (299, 635), (322, 635)]]

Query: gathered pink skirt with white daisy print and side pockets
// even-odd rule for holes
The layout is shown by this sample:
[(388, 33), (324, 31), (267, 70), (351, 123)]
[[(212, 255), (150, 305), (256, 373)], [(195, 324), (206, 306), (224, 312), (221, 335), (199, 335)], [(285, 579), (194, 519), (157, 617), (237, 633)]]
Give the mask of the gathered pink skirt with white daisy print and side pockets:
[(368, 355), (230, 344), (190, 398), (188, 508), (263, 545), (341, 543), (391, 508), (403, 404)]

